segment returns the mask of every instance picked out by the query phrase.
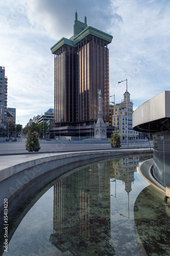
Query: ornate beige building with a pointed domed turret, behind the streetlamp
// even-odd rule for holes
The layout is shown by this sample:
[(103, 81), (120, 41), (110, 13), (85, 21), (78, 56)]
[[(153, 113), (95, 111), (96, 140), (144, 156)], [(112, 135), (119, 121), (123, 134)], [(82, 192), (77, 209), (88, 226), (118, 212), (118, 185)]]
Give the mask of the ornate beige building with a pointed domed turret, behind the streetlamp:
[[(128, 115), (127, 115), (127, 95), (128, 95)], [(139, 133), (133, 131), (132, 127), (133, 102), (130, 100), (130, 93), (124, 93), (124, 100), (121, 103), (110, 105), (109, 108), (109, 125), (115, 126), (121, 134), (121, 140), (139, 139)]]

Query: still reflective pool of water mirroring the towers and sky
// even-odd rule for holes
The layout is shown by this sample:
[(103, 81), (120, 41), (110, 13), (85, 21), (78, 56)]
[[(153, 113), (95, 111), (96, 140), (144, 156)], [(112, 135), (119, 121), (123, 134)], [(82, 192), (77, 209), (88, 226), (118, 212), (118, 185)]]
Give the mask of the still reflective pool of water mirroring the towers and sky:
[(34, 193), (11, 202), (8, 256), (170, 255), (169, 202), (138, 172), (147, 158), (93, 162), (20, 191)]

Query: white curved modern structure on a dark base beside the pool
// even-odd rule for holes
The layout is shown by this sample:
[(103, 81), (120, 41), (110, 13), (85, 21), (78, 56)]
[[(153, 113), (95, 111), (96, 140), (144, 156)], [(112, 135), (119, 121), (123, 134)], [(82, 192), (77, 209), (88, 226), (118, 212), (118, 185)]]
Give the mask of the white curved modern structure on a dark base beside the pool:
[(133, 129), (153, 134), (153, 176), (170, 197), (170, 91), (156, 95), (134, 111)]

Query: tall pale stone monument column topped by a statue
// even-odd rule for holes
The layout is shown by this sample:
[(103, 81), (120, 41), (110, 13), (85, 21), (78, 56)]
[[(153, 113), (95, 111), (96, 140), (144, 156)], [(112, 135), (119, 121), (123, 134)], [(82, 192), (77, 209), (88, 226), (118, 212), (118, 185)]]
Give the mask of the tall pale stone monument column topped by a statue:
[(98, 111), (98, 121), (94, 125), (94, 138), (95, 139), (107, 139), (107, 126), (103, 121), (103, 111), (102, 111), (102, 92), (98, 89), (99, 94), (99, 111)]

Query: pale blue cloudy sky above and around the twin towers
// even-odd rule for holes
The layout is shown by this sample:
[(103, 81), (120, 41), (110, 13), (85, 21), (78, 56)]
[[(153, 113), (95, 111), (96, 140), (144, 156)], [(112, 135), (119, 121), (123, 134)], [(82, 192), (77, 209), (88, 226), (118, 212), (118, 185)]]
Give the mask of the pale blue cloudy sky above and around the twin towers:
[[(110, 96), (131, 94), (133, 109), (170, 90), (169, 0), (8, 0), (0, 7), (0, 66), (8, 77), (8, 108), (16, 123), (54, 108), (51, 47), (73, 35), (78, 20), (113, 36), (109, 48)], [(110, 101), (114, 98), (110, 97)], [(161, 103), (161, 102), (160, 102)]]

